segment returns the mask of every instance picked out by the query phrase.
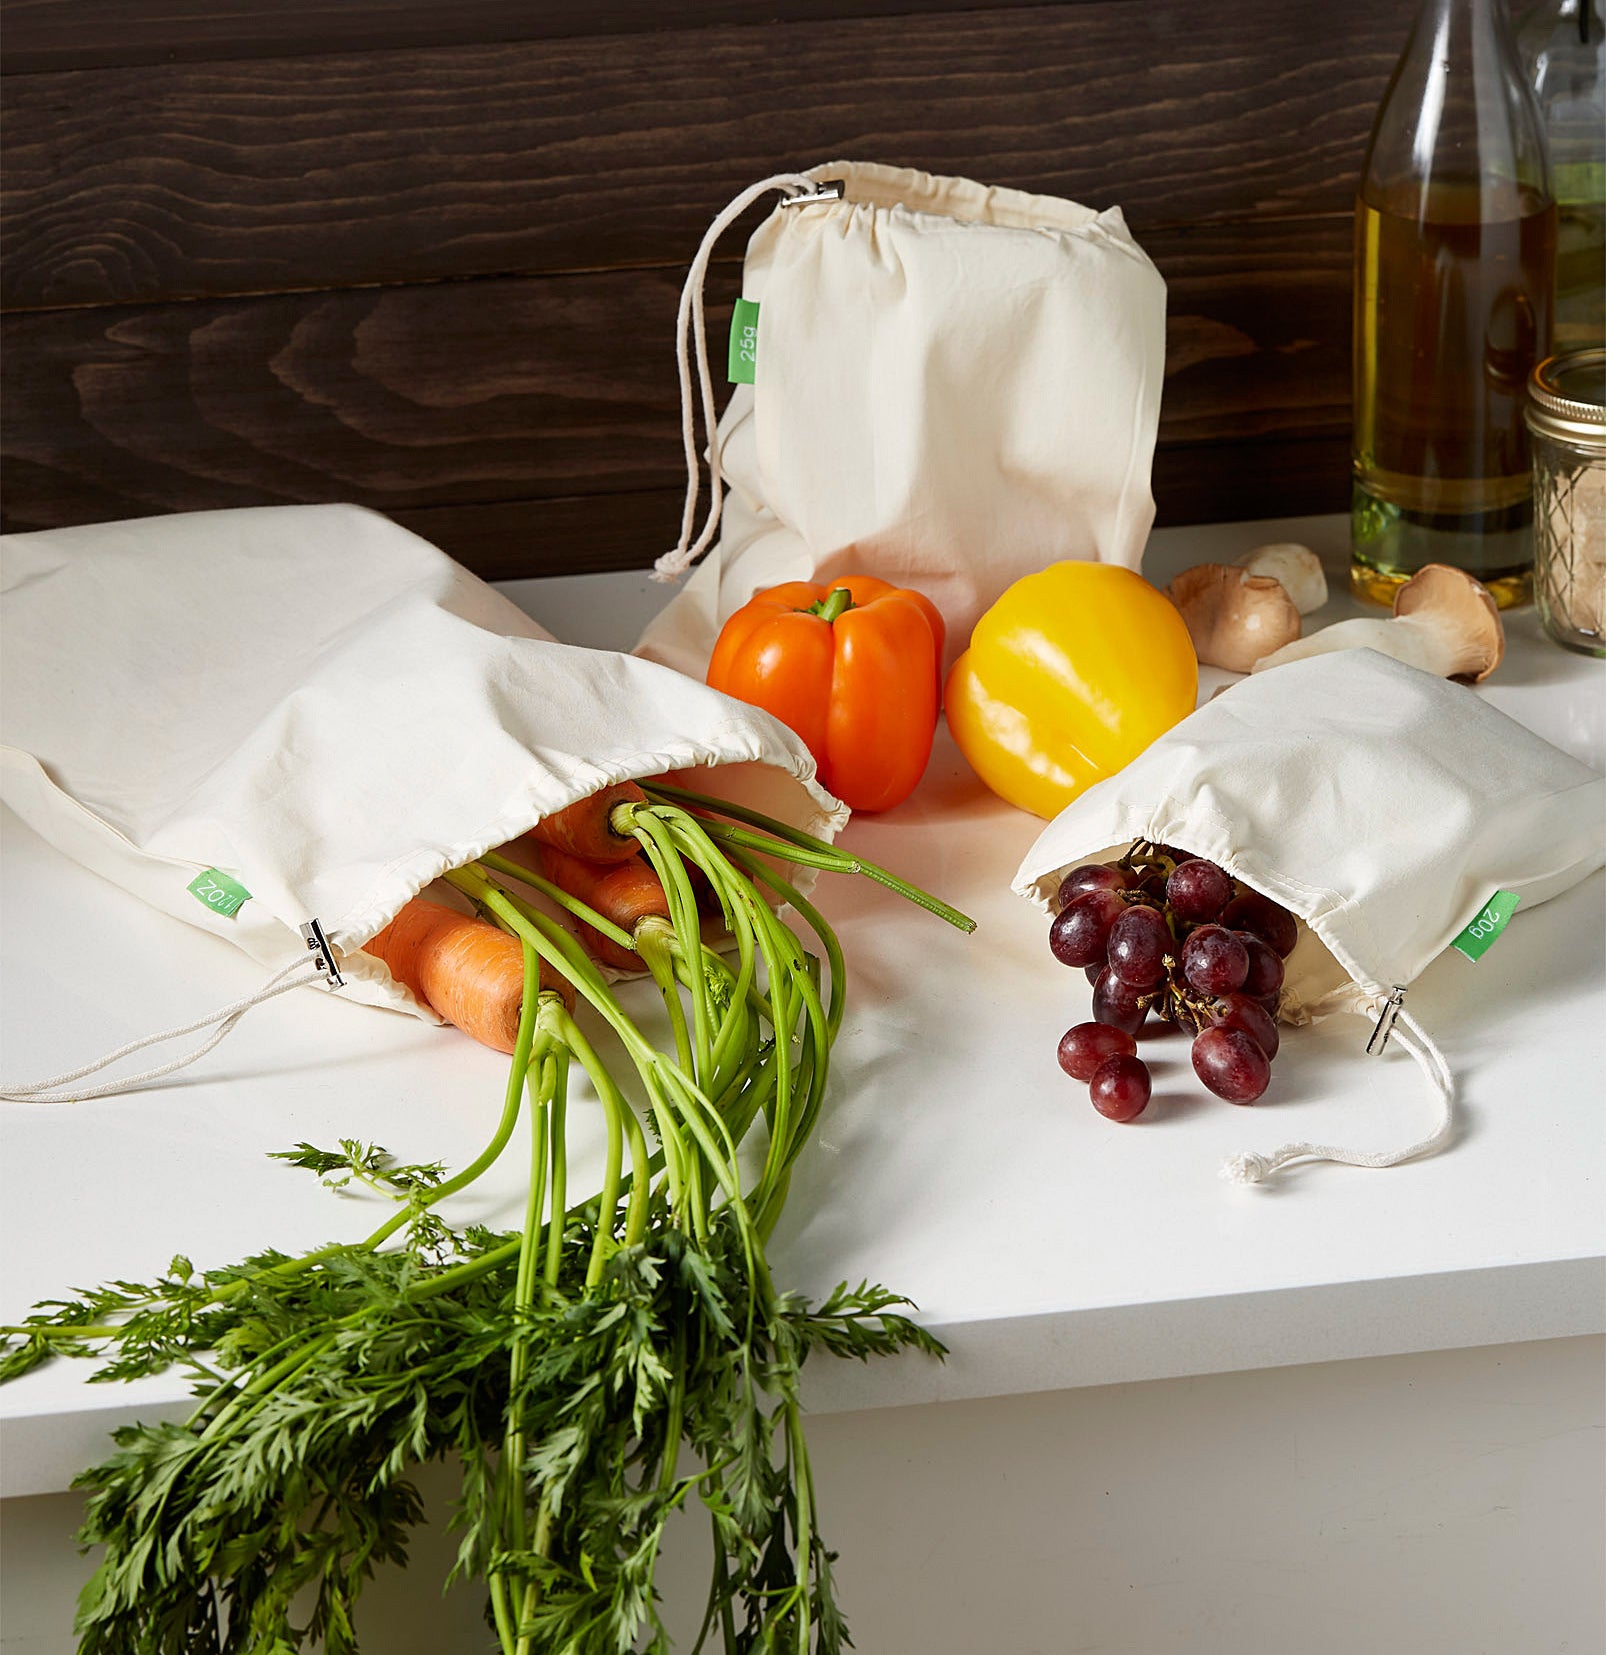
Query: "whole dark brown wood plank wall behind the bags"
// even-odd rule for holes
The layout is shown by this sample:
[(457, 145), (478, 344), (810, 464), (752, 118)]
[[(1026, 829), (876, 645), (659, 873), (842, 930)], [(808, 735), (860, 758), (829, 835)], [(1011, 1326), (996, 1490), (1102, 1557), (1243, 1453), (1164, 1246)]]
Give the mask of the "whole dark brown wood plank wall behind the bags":
[(1169, 286), (1162, 521), (1336, 510), (1407, 12), (7, 0), (5, 525), (358, 500), (488, 574), (649, 563), (684, 265), (843, 156), (1119, 204)]

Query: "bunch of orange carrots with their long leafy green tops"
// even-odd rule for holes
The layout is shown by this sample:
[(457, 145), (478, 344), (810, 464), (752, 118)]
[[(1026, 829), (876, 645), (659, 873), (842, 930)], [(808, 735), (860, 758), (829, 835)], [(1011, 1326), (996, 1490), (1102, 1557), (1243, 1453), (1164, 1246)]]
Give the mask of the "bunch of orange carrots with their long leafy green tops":
[[(396, 1211), (361, 1243), (214, 1271), (174, 1259), (156, 1283), (5, 1329), (0, 1379), (58, 1354), (99, 1355), (96, 1377), (182, 1362), (197, 1379), (187, 1422), (119, 1432), (79, 1480), (81, 1539), (103, 1547), (83, 1655), (295, 1655), (313, 1638), (356, 1652), (363, 1582), (406, 1556), (421, 1514), (409, 1473), (447, 1456), (462, 1466), (454, 1572), (485, 1582), (502, 1655), (667, 1652), (652, 1574), (666, 1524), (694, 1503), (712, 1536), (697, 1650), (712, 1637), (727, 1652), (843, 1648), (800, 1372), (815, 1349), (940, 1347), (882, 1288), (844, 1284), (815, 1306), (770, 1276), (765, 1243), (820, 1115), (846, 988), (786, 864), (866, 874), (972, 928), (757, 813), (667, 784), (604, 789), (447, 874), (472, 915), (414, 899), (366, 945), (512, 1054), (502, 1119), (469, 1167), (298, 1145), (285, 1158), (361, 1180)], [(715, 928), (724, 952), (705, 942)], [(659, 1044), (599, 962), (651, 975)], [(601, 1187), (579, 1200), (576, 1066), (608, 1129)], [(522, 1230), (454, 1230), (439, 1203), (525, 1112)]]

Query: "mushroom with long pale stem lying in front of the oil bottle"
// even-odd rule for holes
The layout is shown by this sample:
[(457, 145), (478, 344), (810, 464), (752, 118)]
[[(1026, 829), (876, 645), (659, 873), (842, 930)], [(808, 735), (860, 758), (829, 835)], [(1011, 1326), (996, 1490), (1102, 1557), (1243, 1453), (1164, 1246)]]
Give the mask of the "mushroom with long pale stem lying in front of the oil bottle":
[(1391, 621), (1339, 621), (1257, 660), (1253, 670), (1334, 649), (1376, 649), (1440, 679), (1482, 684), (1505, 654), (1505, 629), (1480, 581), (1447, 563), (1429, 563), (1394, 594)]

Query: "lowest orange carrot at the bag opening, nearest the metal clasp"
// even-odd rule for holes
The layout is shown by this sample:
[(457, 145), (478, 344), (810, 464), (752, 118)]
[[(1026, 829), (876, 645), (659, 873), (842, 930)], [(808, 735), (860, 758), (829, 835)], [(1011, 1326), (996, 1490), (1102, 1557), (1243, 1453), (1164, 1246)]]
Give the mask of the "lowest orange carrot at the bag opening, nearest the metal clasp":
[[(525, 952), (487, 920), (414, 897), (363, 952), (412, 995), (495, 1051), (512, 1053), (525, 1000)], [(575, 990), (541, 962), (541, 988), (573, 1006)]]

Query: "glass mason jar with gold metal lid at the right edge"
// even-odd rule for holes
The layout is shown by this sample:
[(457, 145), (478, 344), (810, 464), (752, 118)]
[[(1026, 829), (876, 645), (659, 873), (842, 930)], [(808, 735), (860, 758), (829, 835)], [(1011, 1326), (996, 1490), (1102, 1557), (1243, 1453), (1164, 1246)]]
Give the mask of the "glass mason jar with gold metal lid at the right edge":
[(1540, 362), (1527, 420), (1540, 619), (1558, 644), (1606, 655), (1606, 348)]

